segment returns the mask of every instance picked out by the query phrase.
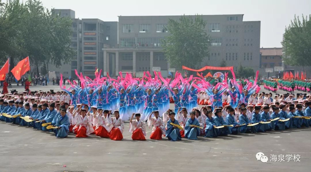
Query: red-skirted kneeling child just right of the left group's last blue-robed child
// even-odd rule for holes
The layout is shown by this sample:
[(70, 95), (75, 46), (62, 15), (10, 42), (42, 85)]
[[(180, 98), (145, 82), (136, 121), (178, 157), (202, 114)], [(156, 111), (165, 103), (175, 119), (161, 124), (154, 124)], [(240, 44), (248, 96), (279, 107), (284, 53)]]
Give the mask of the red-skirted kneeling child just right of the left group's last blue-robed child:
[(78, 114), (74, 118), (76, 126), (73, 127), (73, 130), (77, 133), (76, 137), (87, 137), (94, 132), (91, 121), (86, 116), (85, 109), (79, 109)]

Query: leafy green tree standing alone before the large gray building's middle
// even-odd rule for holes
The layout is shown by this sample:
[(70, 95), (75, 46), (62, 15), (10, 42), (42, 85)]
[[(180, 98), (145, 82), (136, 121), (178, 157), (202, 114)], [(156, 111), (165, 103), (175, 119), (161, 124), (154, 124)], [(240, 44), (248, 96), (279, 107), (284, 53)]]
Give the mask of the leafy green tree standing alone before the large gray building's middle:
[(181, 16), (179, 21), (169, 19), (169, 32), (162, 39), (162, 51), (171, 66), (181, 69), (182, 65), (193, 68), (199, 65), (204, 57), (209, 56), (209, 36), (204, 29), (206, 21), (202, 16)]

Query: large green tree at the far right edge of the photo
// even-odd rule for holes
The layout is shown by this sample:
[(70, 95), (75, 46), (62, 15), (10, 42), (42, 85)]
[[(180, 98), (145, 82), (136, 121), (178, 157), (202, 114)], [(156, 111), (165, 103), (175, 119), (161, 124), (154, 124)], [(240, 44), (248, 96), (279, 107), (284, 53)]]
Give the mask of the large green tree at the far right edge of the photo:
[(295, 15), (290, 25), (285, 28), (282, 46), (285, 50), (285, 63), (291, 66), (311, 66), (311, 15), (302, 21)]

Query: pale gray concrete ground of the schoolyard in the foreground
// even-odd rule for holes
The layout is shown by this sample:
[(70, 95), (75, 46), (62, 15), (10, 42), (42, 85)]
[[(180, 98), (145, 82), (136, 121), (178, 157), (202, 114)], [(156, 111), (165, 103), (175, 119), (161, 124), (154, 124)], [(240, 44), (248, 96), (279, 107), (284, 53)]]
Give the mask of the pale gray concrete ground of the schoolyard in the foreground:
[[(57, 90), (37, 86), (31, 90)], [(261, 90), (261, 92), (263, 89)], [(267, 92), (267, 90), (265, 90)], [(281, 92), (280, 92), (281, 93)], [(171, 104), (171, 106), (173, 106)], [(178, 142), (132, 141), (125, 123), (122, 141), (53, 133), (0, 122), (0, 171), (306, 171), (311, 168), (311, 128), (238, 134)], [(268, 162), (257, 161), (262, 152)], [(270, 161), (272, 155), (284, 161)], [(290, 159), (299, 155), (300, 159)], [(280, 159), (279, 159), (280, 160)]]

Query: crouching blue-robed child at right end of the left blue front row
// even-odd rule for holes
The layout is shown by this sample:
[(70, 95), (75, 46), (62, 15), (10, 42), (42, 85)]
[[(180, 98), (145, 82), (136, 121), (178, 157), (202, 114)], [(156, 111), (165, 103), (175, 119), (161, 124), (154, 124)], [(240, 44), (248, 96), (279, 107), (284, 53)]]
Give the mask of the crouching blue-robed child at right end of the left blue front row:
[(65, 138), (69, 133), (69, 118), (66, 114), (66, 109), (60, 109), (60, 116), (56, 119), (55, 127), (58, 127), (54, 130), (55, 136), (58, 138)]

